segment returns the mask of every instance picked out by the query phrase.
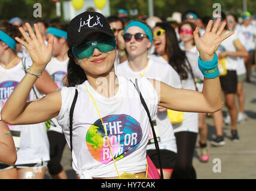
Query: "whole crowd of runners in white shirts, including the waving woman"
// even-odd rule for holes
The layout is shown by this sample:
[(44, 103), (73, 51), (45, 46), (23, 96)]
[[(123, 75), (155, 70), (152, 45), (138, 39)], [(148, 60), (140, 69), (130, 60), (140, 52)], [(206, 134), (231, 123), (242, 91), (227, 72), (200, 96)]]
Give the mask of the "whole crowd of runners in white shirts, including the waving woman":
[(194, 179), (197, 137), (200, 160), (209, 160), (210, 113), (210, 143), (225, 145), (223, 123), (239, 142), (243, 82), (256, 76), (256, 21), (193, 10), (180, 20), (134, 20), (120, 9), (106, 18), (86, 11), (69, 24), (0, 21), (0, 178), (47, 170), (68, 178), (60, 163), (68, 143), (77, 178), (147, 178), (148, 156), (163, 178)]

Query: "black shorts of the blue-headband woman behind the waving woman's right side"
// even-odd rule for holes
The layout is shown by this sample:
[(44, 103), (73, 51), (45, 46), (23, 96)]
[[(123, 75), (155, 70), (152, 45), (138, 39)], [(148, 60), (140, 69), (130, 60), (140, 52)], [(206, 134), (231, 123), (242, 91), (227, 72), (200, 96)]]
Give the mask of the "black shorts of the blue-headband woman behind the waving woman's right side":
[[(156, 150), (147, 150), (147, 155), (150, 157), (151, 161), (154, 163), (156, 168), (160, 168), (159, 158), (157, 157)], [(170, 150), (162, 150), (160, 149), (161, 156), (161, 165), (162, 168), (172, 169), (176, 162), (176, 153)]]

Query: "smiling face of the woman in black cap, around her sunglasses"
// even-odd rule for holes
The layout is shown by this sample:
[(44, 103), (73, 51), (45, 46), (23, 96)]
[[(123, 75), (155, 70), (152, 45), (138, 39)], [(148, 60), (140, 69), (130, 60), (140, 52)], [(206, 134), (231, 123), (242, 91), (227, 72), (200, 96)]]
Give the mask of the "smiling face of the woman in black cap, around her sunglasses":
[[(87, 36), (86, 40), (90, 41), (92, 39), (101, 38), (105, 35), (102, 33), (92, 33)], [(116, 56), (116, 50), (109, 51), (108, 53), (102, 53), (97, 48), (93, 50), (92, 57), (79, 59), (74, 58), (75, 63), (79, 64), (84, 70), (87, 76), (97, 76), (106, 75), (111, 70), (114, 69), (114, 61)]]

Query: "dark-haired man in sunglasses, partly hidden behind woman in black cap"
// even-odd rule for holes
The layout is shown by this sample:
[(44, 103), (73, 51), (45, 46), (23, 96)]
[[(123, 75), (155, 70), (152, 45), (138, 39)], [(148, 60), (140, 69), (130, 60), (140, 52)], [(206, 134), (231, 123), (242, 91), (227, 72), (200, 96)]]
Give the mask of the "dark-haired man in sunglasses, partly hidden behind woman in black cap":
[(108, 20), (108, 23), (115, 35), (115, 41), (117, 42), (117, 51), (118, 51), (118, 57), (120, 60), (120, 63), (127, 60), (125, 45), (124, 45), (124, 23), (123, 21), (117, 17), (117, 16), (109, 16), (106, 18)]

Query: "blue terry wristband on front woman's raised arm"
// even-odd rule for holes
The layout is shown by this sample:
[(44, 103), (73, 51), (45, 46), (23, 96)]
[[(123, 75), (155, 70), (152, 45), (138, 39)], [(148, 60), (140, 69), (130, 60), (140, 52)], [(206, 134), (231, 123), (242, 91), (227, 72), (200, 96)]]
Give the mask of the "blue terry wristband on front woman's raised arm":
[(198, 67), (206, 78), (217, 78), (220, 74), (218, 69), (218, 56), (216, 53), (211, 61), (203, 61), (199, 57)]

